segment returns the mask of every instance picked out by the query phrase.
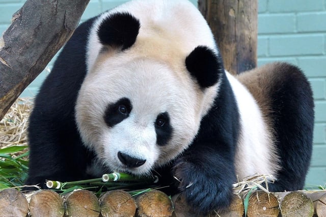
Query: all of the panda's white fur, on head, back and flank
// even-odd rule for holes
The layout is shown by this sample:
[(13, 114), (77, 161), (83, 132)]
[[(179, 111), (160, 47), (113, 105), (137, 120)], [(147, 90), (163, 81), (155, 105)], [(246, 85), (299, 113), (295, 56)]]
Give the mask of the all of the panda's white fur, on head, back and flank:
[[(112, 49), (101, 53), (103, 45), (97, 37), (97, 28), (105, 17), (116, 12), (137, 17), (140, 32), (128, 51), (119, 53)], [(88, 75), (78, 95), (76, 120), (85, 144), (96, 150), (100, 162), (112, 170), (121, 170), (125, 167), (117, 159), (117, 152), (123, 151), (146, 159), (143, 166), (125, 171), (146, 174), (154, 166), (170, 162), (191, 144), (219, 87), (216, 84), (203, 93), (188, 76), (183, 60), (199, 45), (219, 52), (206, 21), (188, 1), (153, 0), (145, 7), (141, 0), (132, 1), (96, 20), (90, 32)], [(278, 167), (270, 165), (269, 159), (277, 156), (259, 107), (249, 91), (227, 75), (237, 99), (243, 131), (236, 152), (239, 179), (255, 173), (276, 175)], [(101, 114), (108, 103), (122, 97), (132, 100), (134, 112), (115, 128), (107, 129)], [(171, 114), (175, 131), (171, 145), (157, 149), (153, 122), (163, 111)]]

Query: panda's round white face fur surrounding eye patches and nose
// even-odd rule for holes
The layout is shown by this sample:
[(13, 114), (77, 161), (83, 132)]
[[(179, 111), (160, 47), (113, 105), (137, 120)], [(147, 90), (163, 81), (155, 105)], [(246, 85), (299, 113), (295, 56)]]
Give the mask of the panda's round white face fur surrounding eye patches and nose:
[[(199, 128), (201, 102), (197, 96), (199, 92), (191, 88), (192, 81), (184, 84), (173, 76), (171, 69), (152, 59), (136, 60), (123, 61), (119, 65), (106, 64), (115, 69), (112, 73), (102, 71), (103, 68), (99, 68), (100, 72), (89, 73), (79, 91), (76, 120), (85, 144), (95, 148), (98, 157), (112, 170), (124, 168), (117, 159), (117, 152), (123, 151), (132, 157), (146, 159), (145, 165), (129, 169), (129, 172), (144, 174), (150, 172), (154, 164), (162, 165), (174, 159), (192, 142)], [(130, 68), (126, 68), (126, 64)], [(133, 111), (125, 121), (112, 129), (107, 128), (102, 118), (104, 109), (121, 97), (131, 99)], [(157, 149), (154, 121), (157, 114), (166, 110), (176, 130), (169, 149)], [(184, 119), (183, 115), (189, 118)], [(193, 119), (198, 121), (193, 122)]]

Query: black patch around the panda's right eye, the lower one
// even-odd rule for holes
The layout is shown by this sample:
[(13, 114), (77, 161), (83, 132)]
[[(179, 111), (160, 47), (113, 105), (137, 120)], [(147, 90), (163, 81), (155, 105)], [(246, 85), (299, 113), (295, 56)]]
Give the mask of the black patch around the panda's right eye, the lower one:
[(172, 127), (168, 112), (160, 113), (155, 120), (155, 132), (157, 145), (165, 145), (172, 137)]

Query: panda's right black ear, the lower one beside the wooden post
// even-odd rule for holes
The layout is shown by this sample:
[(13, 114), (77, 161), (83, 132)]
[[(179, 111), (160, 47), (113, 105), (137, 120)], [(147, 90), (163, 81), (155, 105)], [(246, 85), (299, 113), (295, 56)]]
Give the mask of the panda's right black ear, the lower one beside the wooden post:
[(213, 86), (224, 73), (222, 57), (206, 46), (196, 47), (186, 57), (185, 66), (201, 88)]

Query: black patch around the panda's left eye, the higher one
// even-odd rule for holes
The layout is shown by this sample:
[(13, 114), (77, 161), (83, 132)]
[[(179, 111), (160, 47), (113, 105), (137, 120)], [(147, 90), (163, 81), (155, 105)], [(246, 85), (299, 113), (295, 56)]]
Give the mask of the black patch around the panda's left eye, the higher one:
[(113, 127), (129, 117), (132, 106), (128, 98), (121, 98), (115, 103), (108, 104), (104, 113), (104, 121), (108, 127)]

